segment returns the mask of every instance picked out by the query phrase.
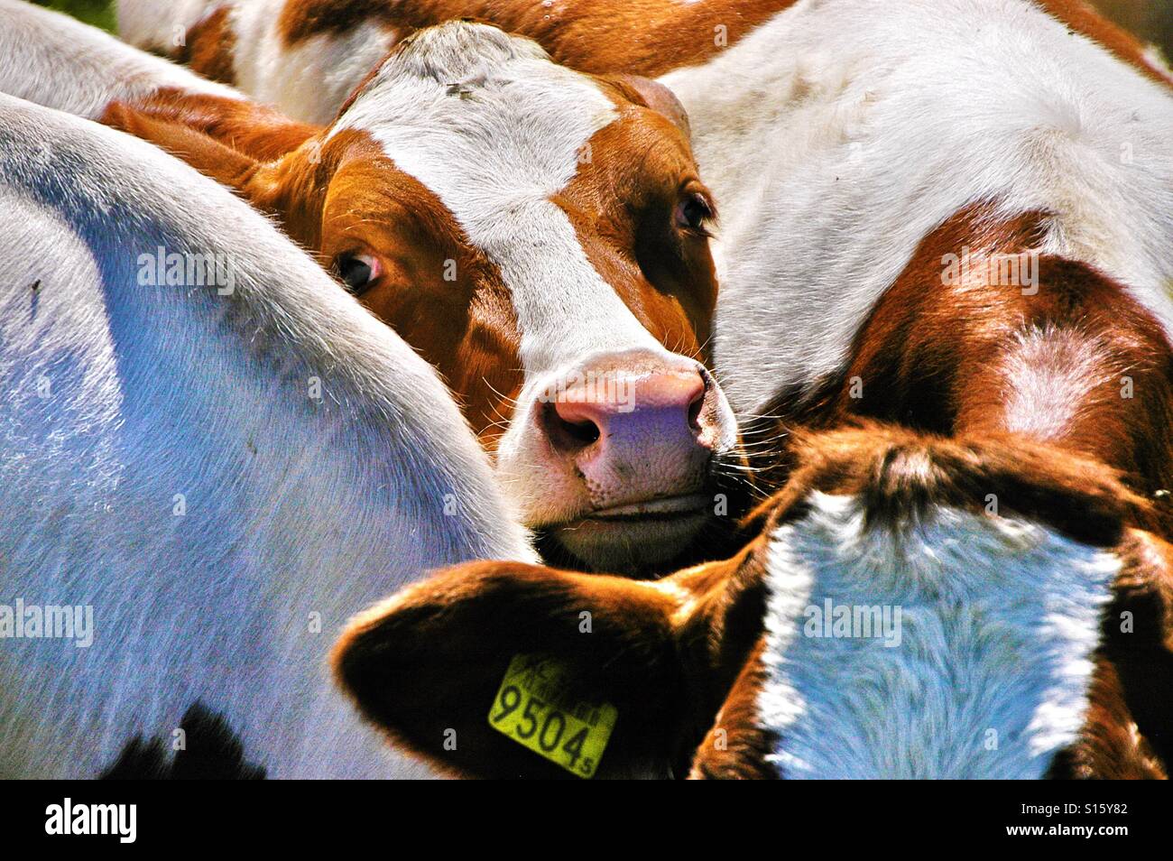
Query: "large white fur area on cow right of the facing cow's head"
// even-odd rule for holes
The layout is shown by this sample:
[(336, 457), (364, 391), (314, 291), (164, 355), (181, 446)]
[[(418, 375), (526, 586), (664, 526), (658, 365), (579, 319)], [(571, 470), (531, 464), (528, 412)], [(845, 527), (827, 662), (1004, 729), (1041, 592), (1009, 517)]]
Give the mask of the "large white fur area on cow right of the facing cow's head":
[(921, 239), (979, 201), (1053, 210), (1042, 251), (1173, 326), (1173, 97), (1024, 0), (800, 0), (660, 81), (721, 209), (739, 413), (840, 367)]

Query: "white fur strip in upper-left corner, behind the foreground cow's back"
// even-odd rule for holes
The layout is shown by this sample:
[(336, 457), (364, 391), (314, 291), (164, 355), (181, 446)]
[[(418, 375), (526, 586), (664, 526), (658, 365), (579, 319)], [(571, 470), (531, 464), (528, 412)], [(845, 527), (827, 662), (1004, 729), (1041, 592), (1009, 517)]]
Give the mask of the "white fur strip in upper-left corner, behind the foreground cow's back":
[(240, 97), (57, 12), (0, 0), (0, 93), (89, 118), (115, 100), (134, 101), (162, 87)]

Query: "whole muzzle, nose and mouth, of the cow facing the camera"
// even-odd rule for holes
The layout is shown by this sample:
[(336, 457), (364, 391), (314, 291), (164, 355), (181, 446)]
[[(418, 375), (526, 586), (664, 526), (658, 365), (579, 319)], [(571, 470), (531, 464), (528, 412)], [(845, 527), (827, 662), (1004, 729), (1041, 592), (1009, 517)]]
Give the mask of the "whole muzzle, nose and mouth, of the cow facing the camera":
[(518, 406), (516, 445), (499, 450), (499, 469), (528, 524), (574, 561), (656, 567), (723, 514), (713, 465), (737, 445), (737, 425), (699, 362), (651, 351), (594, 357), (523, 392)]

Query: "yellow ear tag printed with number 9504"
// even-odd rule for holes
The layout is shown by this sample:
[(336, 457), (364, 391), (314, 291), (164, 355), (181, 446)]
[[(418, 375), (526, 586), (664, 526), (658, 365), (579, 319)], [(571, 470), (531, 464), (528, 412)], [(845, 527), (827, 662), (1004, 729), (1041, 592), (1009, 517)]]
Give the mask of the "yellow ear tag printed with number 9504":
[(489, 726), (579, 778), (592, 778), (619, 711), (565, 696), (569, 671), (544, 655), (515, 655), (489, 710)]

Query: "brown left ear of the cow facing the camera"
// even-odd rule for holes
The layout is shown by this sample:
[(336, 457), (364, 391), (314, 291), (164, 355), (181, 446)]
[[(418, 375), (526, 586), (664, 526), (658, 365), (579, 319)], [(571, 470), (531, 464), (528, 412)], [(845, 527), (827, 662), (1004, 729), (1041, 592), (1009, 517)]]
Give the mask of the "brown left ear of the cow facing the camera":
[(272, 170), (258, 160), (182, 122), (123, 102), (110, 104), (102, 122), (154, 143), (201, 174), (236, 189), (259, 209), (272, 211)]

